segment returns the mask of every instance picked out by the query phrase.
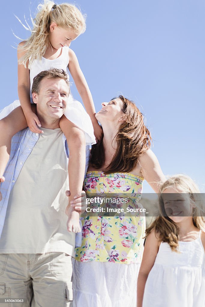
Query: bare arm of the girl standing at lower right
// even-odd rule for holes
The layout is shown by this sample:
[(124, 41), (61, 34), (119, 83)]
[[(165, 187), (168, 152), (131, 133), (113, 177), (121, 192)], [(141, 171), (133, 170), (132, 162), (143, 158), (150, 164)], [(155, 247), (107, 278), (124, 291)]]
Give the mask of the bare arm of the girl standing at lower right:
[(137, 307), (142, 307), (145, 284), (149, 272), (154, 265), (159, 250), (159, 244), (160, 241), (156, 238), (155, 231), (152, 229), (145, 242), (142, 263), (137, 279)]

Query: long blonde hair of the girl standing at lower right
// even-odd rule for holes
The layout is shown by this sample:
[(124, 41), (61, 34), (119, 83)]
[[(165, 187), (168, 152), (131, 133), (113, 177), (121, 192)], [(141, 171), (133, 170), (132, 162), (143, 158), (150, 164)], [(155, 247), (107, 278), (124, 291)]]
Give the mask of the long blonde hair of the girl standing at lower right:
[(192, 202), (195, 204), (193, 210), (193, 223), (195, 227), (205, 231), (205, 204), (199, 188), (188, 176), (178, 174), (168, 178), (161, 186), (158, 194), (159, 216), (146, 229), (145, 238), (154, 229), (156, 235), (162, 242), (167, 242), (172, 251), (178, 251), (179, 246), (179, 227), (168, 216), (164, 208), (163, 192), (166, 188), (180, 188), (184, 193), (188, 193)]

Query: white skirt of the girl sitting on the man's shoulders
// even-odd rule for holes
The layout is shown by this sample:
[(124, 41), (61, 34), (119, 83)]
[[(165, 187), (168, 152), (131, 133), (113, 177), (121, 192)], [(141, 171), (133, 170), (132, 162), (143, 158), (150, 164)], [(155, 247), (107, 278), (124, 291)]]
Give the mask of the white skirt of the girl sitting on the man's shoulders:
[[(20, 101), (15, 100), (13, 103), (0, 110), (0, 119), (6, 117), (11, 111), (19, 106)], [(91, 119), (82, 104), (74, 100), (72, 95), (69, 96), (69, 102), (64, 115), (84, 132), (86, 144), (93, 145), (96, 143)]]

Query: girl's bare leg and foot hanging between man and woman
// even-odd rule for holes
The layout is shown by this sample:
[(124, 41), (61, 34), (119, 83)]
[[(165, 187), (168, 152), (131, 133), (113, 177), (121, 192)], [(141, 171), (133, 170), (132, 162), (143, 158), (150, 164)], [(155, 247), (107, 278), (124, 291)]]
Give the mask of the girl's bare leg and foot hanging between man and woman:
[(70, 201), (82, 191), (85, 173), (85, 136), (77, 126), (70, 122), (64, 115), (60, 120), (60, 127), (67, 139), (69, 147), (69, 204), (65, 213), (68, 215), (67, 230), (80, 232), (79, 213), (70, 206)]

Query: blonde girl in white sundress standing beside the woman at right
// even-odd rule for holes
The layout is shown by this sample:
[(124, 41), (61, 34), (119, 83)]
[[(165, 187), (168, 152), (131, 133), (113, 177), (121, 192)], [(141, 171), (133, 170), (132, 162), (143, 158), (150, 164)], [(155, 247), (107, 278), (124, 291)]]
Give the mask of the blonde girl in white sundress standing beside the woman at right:
[(160, 188), (159, 206), (146, 230), (137, 307), (204, 307), (204, 200), (194, 181), (179, 174)]

